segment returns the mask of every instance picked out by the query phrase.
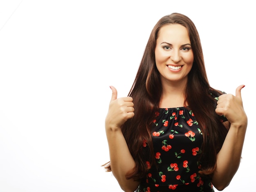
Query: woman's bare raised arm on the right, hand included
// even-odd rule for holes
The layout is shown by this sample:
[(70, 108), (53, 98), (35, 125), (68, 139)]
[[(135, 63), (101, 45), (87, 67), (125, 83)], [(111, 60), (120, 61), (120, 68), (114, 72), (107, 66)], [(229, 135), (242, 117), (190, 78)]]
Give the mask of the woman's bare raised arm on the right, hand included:
[(247, 128), (247, 115), (241, 98), (243, 87), (240, 85), (236, 89), (236, 96), (223, 94), (217, 102), (216, 113), (224, 115), (230, 123), (225, 141), (217, 154), (217, 166), (212, 178), (217, 190), (223, 190), (229, 185), (240, 165)]

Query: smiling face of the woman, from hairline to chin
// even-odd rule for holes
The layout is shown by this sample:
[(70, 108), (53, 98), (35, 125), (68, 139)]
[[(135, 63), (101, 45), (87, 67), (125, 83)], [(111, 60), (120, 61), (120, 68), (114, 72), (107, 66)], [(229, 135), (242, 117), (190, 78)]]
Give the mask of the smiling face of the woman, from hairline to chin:
[(180, 24), (164, 25), (158, 32), (155, 47), (155, 63), (162, 83), (187, 82), (193, 65), (193, 51), (189, 33)]

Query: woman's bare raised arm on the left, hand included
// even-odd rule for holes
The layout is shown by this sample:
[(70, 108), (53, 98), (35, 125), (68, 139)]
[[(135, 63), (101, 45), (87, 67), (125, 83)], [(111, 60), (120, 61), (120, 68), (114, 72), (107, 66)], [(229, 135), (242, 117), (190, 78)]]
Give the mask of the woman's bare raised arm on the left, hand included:
[(134, 108), (131, 97), (117, 99), (117, 90), (112, 89), (105, 128), (110, 153), (111, 171), (117, 179), (120, 187), (125, 192), (134, 192), (139, 182), (126, 179), (126, 173), (135, 167), (135, 161), (130, 154), (126, 140), (121, 132), (123, 125), (129, 118), (134, 116)]

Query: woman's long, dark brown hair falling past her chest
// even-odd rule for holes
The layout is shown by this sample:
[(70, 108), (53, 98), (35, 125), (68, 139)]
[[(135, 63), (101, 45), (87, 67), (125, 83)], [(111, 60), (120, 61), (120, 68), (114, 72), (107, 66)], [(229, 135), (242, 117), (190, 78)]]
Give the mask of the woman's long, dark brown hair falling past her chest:
[[(137, 75), (128, 94), (133, 98), (135, 116), (126, 121), (121, 130), (136, 165), (126, 174), (127, 179), (133, 178), (139, 181), (146, 175), (148, 166), (145, 163), (145, 154), (141, 150), (144, 140), (147, 141), (150, 149), (151, 165), (155, 161), (150, 124), (158, 110), (162, 95), (162, 84), (155, 64), (155, 47), (159, 29), (169, 24), (180, 24), (186, 27), (193, 50), (194, 61), (188, 74), (184, 103), (188, 103), (189, 108), (195, 114), (203, 133), (200, 174), (211, 175), (213, 173), (216, 168), (216, 155), (227, 135), (227, 129), (215, 113), (216, 100), (211, 96), (211, 94), (222, 93), (209, 85), (202, 46), (194, 23), (180, 13), (164, 16), (157, 22), (150, 34)], [(106, 163), (105, 167), (111, 171), (110, 163)]]

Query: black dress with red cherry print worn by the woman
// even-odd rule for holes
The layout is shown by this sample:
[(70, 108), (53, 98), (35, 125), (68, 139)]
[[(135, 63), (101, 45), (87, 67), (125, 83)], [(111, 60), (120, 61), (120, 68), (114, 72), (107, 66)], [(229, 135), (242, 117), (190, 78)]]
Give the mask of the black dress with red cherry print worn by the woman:
[[(227, 119), (222, 116), (220, 121)], [(151, 137), (157, 166), (150, 167), (136, 192), (214, 192), (211, 180), (197, 174), (203, 137), (191, 110), (160, 108)], [(150, 166), (148, 161), (146, 164)]]

